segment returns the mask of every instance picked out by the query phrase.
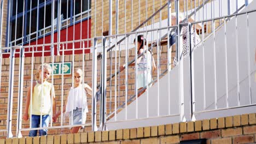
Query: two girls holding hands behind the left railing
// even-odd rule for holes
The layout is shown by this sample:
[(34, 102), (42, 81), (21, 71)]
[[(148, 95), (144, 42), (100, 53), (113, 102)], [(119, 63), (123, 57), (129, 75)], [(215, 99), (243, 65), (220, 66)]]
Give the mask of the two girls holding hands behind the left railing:
[[(39, 65), (36, 73), (37, 80), (33, 81), (31, 86), (27, 89), (25, 112), (22, 119), (27, 121), (28, 117), (31, 115), (31, 128), (39, 128), (40, 125), (42, 125), (43, 128), (48, 127), (51, 118), (53, 118), (53, 122), (56, 122), (57, 117), (61, 115), (61, 111), (56, 112), (55, 109), (54, 86), (47, 81), (51, 72), (52, 69), (49, 64), (44, 63), (43, 65)], [(66, 112), (69, 116), (69, 125), (82, 125), (85, 124), (86, 113), (88, 112), (87, 94), (91, 95), (92, 89), (86, 83), (82, 83), (82, 69), (74, 69), (73, 79), (74, 88), (71, 87), (67, 95), (66, 106), (63, 107), (62, 112)], [(32, 105), (30, 105), (31, 101)], [(53, 107), (53, 109), (51, 109), (51, 107)], [(42, 121), (40, 121), (41, 119)], [(70, 132), (78, 133), (81, 128), (83, 128), (83, 126), (72, 127)], [(37, 136), (37, 131), (38, 130), (31, 130), (29, 136)], [(47, 135), (47, 131), (48, 129), (40, 129), (39, 136)]]

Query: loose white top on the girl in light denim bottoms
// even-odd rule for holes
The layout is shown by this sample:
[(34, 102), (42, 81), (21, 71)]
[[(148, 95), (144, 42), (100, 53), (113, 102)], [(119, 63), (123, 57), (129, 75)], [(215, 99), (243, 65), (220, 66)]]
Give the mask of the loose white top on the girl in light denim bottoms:
[(87, 96), (83, 85), (75, 88), (71, 87), (68, 93), (66, 112), (76, 110), (77, 108), (83, 108), (85, 112), (88, 112)]

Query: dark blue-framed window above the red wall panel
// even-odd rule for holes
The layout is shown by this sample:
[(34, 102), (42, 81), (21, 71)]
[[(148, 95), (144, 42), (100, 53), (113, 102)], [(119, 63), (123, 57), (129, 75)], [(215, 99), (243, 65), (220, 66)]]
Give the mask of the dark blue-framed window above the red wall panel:
[[(10, 42), (9, 45), (28, 43), (30, 40), (42, 37), (51, 32), (51, 0), (10, 0)], [(25, 2), (25, 3), (24, 3)], [(54, 30), (57, 29), (59, 1), (55, 0)], [(62, 0), (61, 28), (73, 25), (75, 22), (88, 17), (91, 0)], [(82, 9), (81, 9), (82, 8)], [(23, 32), (23, 35), (22, 35)]]

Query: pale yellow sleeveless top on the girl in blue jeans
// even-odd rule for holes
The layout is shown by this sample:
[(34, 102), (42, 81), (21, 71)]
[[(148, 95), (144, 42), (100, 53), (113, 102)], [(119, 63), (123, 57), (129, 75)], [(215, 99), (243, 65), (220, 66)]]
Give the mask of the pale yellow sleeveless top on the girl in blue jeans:
[[(37, 82), (37, 81), (36, 81)], [(51, 83), (44, 81), (43, 82), (43, 95), (42, 95), (42, 84), (38, 83), (34, 86), (32, 93), (32, 115), (41, 115), (41, 106), (42, 106), (42, 115), (51, 114)], [(53, 89), (54, 92), (54, 89)], [(41, 97), (43, 96), (43, 97)], [(42, 104), (41, 104), (42, 103)], [(31, 105), (30, 105), (31, 106)], [(30, 110), (30, 108), (29, 108)]]

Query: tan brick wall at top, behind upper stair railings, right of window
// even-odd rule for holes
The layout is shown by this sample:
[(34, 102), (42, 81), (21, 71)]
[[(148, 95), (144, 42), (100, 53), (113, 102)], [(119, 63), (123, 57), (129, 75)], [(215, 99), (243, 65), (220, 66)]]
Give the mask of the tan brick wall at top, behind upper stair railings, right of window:
[[(112, 34), (115, 34), (115, 0), (112, 2)], [(126, 29), (125, 29), (125, 0), (119, 1), (119, 34), (125, 33), (125, 32), (131, 32), (134, 28), (139, 26), (144, 20), (147, 19), (147, 17), (150, 17), (154, 11), (157, 11), (161, 8), (162, 5), (166, 4), (167, 0), (161, 0), (161, 1), (154, 1), (154, 0), (148, 0), (147, 3), (147, 9), (146, 9), (146, 0), (141, 0), (139, 7), (139, 1), (134, 0), (126, 0)], [(184, 3), (185, 2), (185, 3)], [(172, 13), (174, 13), (174, 1), (171, 1), (172, 3)], [(184, 11), (184, 5), (185, 8), (187, 8), (187, 1), (179, 1), (179, 10), (181, 12)], [(202, 4), (202, 1), (200, 1), (200, 4)], [(196, 1), (196, 7), (198, 7), (199, 1)], [(132, 8), (133, 6), (133, 8)], [(195, 1), (192, 1), (192, 7), (195, 7)], [(188, 1), (188, 9), (191, 9), (191, 1)], [(103, 11), (103, 13), (102, 13)], [(131, 12), (133, 11), (133, 13)], [(140, 12), (140, 13), (139, 13)], [(147, 13), (147, 14), (146, 14)], [(189, 12), (190, 13), (190, 12)], [(165, 20), (167, 19), (167, 7), (165, 7), (161, 12), (161, 19)], [(96, 23), (95, 23), (96, 18)], [(91, 37), (95, 36), (101, 36), (102, 32), (108, 31), (109, 29), (109, 1), (103, 0), (102, 1), (96, 1), (96, 16), (95, 16), (95, 0), (91, 1)], [(159, 22), (160, 20), (160, 13), (154, 16), (154, 22)], [(150, 20), (146, 25), (151, 25), (152, 21)], [(146, 26), (144, 25), (144, 26)], [(96, 34), (95, 34), (96, 29)]]

